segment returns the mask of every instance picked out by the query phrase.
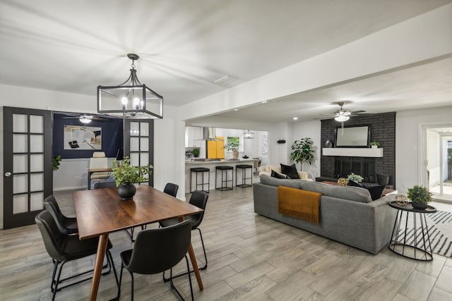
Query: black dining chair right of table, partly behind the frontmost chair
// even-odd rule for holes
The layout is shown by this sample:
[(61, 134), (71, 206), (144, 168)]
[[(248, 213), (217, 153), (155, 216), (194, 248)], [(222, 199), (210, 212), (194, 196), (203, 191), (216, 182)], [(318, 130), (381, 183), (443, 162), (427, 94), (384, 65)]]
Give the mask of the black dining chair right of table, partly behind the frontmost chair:
[[(207, 201), (208, 201), (209, 195), (207, 192), (202, 191), (202, 190), (195, 190), (190, 197), (190, 201), (189, 203), (206, 210), (206, 205), (207, 205)], [(204, 218), (204, 212), (201, 212), (199, 214), (192, 214), (189, 216), (185, 216), (185, 218), (189, 221), (191, 221), (191, 230), (198, 230), (199, 232), (199, 236), (201, 238), (201, 245), (203, 245), (203, 252), (204, 252), (204, 259), (206, 261), (206, 263), (201, 266), (199, 269), (200, 270), (205, 270), (207, 269), (207, 254), (206, 254), (206, 248), (204, 247), (204, 240), (203, 240), (203, 234), (201, 233), (201, 229), (198, 228), (201, 225), (201, 222), (203, 221)], [(167, 219), (166, 221), (160, 221), (160, 227), (164, 228), (167, 226), (171, 226), (174, 225), (175, 223), (178, 223), (179, 221), (177, 219)], [(185, 273), (184, 273), (185, 274)], [(174, 277), (179, 277), (182, 276), (184, 274), (179, 274), (177, 276)], [(173, 278), (174, 278), (173, 277)], [(165, 273), (163, 273), (163, 279), (165, 281), (169, 281), (169, 278), (165, 278)]]

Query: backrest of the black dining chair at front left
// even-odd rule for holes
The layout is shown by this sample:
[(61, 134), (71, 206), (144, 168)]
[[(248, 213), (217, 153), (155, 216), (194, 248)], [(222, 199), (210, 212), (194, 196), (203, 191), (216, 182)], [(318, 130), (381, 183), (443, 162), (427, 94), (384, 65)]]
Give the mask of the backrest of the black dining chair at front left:
[(64, 259), (64, 252), (61, 250), (61, 245), (66, 237), (57, 226), (52, 214), (49, 211), (41, 211), (35, 217), (37, 228), (40, 229), (42, 240), (44, 240), (44, 247), (49, 253), (50, 257), (57, 260)]

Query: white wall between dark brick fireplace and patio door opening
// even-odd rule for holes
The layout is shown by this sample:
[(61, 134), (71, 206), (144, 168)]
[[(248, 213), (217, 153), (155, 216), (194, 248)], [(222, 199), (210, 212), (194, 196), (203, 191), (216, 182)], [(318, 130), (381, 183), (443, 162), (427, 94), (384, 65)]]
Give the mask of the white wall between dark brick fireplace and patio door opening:
[[(452, 95), (451, 95), (452, 103)], [(396, 114), (396, 183), (400, 193), (421, 183), (420, 162), (422, 125), (452, 123), (452, 106), (434, 109), (400, 111)]]

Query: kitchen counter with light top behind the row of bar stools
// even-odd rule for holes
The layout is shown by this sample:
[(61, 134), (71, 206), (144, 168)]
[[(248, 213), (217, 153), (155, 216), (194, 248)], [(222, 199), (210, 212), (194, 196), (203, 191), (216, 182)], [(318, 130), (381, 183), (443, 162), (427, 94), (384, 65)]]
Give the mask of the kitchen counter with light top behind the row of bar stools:
[[(205, 160), (205, 161), (203, 161)], [(194, 167), (206, 167), (206, 168), (210, 168), (210, 173), (209, 173), (209, 180), (210, 180), (210, 190), (215, 190), (215, 167), (216, 166), (232, 166), (234, 167), (234, 170), (232, 171), (232, 175), (231, 175), (231, 171), (228, 171), (228, 178), (232, 177), (233, 179), (233, 186), (234, 189), (236, 188), (235, 185), (235, 166), (239, 165), (239, 164), (249, 164), (251, 166), (254, 166), (254, 161), (257, 161), (257, 159), (201, 159), (201, 158), (194, 158), (194, 159), (190, 159), (190, 160), (185, 160), (185, 193), (190, 193), (190, 168), (194, 168)], [(246, 171), (247, 175), (250, 171)], [(252, 173), (254, 173), (254, 169), (251, 171)], [(195, 174), (193, 174), (194, 176)], [(218, 179), (218, 186), (220, 186), (220, 173), (218, 173), (218, 176), (220, 177)], [(252, 175), (251, 175), (252, 176)], [(239, 171), (237, 178), (242, 178), (241, 175), (241, 171)], [(199, 175), (199, 179), (201, 179), (201, 174)], [(195, 182), (195, 180), (194, 180)], [(239, 181), (240, 182), (240, 181)], [(194, 188), (194, 184), (193, 184), (193, 188)], [(201, 188), (201, 187), (200, 187)], [(207, 189), (207, 186), (206, 186)]]

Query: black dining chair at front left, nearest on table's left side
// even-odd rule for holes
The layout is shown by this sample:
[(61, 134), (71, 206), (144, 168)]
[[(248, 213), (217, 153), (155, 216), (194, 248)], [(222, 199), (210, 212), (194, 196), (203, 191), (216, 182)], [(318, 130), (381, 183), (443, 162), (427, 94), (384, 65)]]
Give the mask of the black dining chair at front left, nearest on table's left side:
[[(66, 278), (61, 279), (61, 271), (63, 270), (64, 264), (66, 262), (71, 262), (72, 260), (81, 259), (93, 254), (97, 253), (97, 245), (99, 243), (99, 238), (88, 238), (85, 240), (80, 240), (78, 235), (67, 235), (62, 233), (57, 223), (50, 214), (49, 211), (44, 210), (41, 211), (35, 217), (35, 223), (37, 224), (37, 228), (39, 228), (40, 233), (42, 235), (42, 240), (44, 241), (44, 247), (47, 250), (47, 253), (50, 257), (52, 257), (52, 261), (54, 262), (54, 269), (52, 272), (52, 282), (50, 283), (50, 290), (52, 291), (52, 301), (55, 300), (55, 295), (57, 291), (67, 288), (71, 285), (75, 285), (77, 283), (81, 283), (83, 281), (87, 281), (92, 277), (83, 277), (80, 280), (80, 276), (93, 272), (83, 271), (76, 275), (68, 276)], [(104, 266), (106, 271), (102, 272), (102, 275), (109, 274), (110, 271), (114, 272), (114, 278), (116, 279), (116, 283), (118, 284), (118, 276), (116, 273), (116, 269), (114, 269), (114, 263), (112, 254), (109, 252), (109, 249), (112, 248), (112, 242), (108, 241), (107, 245), (107, 265)], [(55, 278), (56, 277), (56, 278)], [(70, 279), (78, 278), (78, 281), (74, 279), (71, 283), (66, 284), (64, 286), (59, 286), (60, 283), (64, 281), (69, 281)], [(67, 283), (67, 282), (66, 282)]]

